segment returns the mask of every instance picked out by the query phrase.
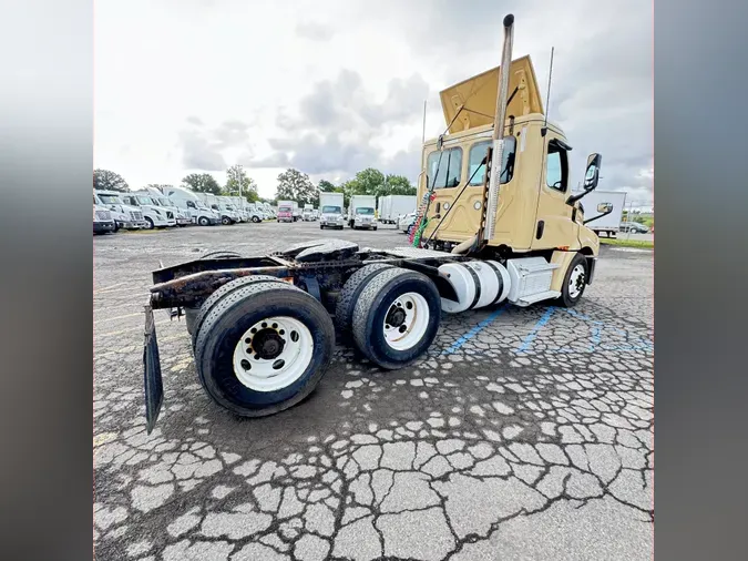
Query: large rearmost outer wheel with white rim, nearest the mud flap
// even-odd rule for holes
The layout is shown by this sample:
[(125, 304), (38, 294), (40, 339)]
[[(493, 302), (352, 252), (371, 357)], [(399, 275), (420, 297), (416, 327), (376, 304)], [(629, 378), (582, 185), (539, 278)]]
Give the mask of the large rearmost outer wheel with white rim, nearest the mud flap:
[[(257, 329), (254, 335), (252, 329)], [(275, 339), (263, 339), (262, 348), (270, 357), (252, 355), (262, 333)], [(332, 320), (317, 299), (286, 283), (253, 283), (224, 295), (206, 315), (197, 335), (195, 364), (214, 401), (243, 417), (265, 417), (307, 397), (325, 375), (334, 349)], [(271, 360), (280, 363), (284, 357), (289, 364), (268, 377), (265, 370), (274, 369)], [(263, 374), (253, 376), (253, 366), (255, 373), (263, 368)]]

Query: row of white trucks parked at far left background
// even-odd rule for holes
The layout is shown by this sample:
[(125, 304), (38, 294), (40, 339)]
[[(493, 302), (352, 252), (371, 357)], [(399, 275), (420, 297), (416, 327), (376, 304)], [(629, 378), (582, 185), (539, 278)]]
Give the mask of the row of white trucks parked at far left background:
[(93, 191), (94, 234), (258, 223), (275, 217), (275, 210), (268, 203), (248, 203), (238, 196), (196, 193), (186, 187), (145, 187), (127, 193)]

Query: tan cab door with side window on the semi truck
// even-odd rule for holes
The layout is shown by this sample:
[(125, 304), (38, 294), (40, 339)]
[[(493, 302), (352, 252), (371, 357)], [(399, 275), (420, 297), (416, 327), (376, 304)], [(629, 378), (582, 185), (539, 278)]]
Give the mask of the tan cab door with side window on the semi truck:
[(545, 163), (537, 201), (532, 249), (578, 249), (578, 225), (572, 221), (568, 181), (568, 146), (552, 130), (545, 136)]

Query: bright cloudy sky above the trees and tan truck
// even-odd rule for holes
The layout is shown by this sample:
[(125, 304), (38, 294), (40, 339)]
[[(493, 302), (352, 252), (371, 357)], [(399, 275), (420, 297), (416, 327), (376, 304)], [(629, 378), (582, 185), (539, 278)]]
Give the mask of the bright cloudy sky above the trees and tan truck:
[(439, 91), (514, 57), (533, 59), (550, 119), (574, 147), (572, 181), (603, 154), (601, 190), (652, 204), (652, 0), (99, 0), (94, 164), (131, 187), (225, 180), (243, 164), (271, 196), (297, 167), (345, 181), (368, 166), (416, 180), (445, 128)]

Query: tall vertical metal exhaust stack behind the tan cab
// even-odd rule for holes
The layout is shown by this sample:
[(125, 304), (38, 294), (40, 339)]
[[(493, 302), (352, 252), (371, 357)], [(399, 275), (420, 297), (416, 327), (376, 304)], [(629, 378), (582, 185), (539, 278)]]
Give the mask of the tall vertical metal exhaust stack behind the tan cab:
[(501, 162), (504, 155), (504, 122), (506, 121), (506, 98), (509, 96), (509, 71), (512, 65), (512, 39), (514, 35), (514, 16), (504, 18), (504, 49), (501, 55), (499, 95), (496, 114), (493, 121), (493, 150), (491, 157), (491, 177), (489, 180), (489, 202), (485, 210), (485, 230), (483, 239), (493, 237), (499, 207), (499, 186), (501, 185)]

